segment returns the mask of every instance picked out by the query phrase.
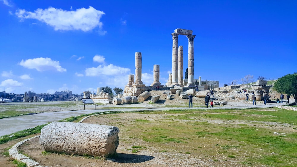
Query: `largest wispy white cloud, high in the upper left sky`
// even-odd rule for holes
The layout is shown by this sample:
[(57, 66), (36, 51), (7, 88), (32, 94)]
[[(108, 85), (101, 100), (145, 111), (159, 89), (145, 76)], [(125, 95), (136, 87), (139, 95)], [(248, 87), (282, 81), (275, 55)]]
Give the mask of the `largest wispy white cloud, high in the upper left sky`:
[(91, 31), (96, 27), (102, 29), (103, 23), (100, 18), (105, 13), (89, 6), (88, 9), (80, 8), (76, 11), (67, 11), (48, 7), (47, 9), (36, 9), (27, 12), (24, 9), (16, 10), (15, 14), (21, 19), (37, 19), (54, 27), (57, 30), (82, 30)]

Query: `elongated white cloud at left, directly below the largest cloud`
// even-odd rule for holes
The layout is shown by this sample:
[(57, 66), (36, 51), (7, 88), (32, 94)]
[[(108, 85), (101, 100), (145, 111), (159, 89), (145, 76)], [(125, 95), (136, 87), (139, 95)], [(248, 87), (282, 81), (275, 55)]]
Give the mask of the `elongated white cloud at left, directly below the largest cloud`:
[(59, 72), (66, 71), (66, 69), (60, 66), (59, 61), (53, 61), (50, 58), (34, 58), (34, 59), (28, 59), (25, 61), (22, 60), (19, 64), (28, 69), (36, 69), (37, 71), (46, 71), (46, 70), (57, 70)]

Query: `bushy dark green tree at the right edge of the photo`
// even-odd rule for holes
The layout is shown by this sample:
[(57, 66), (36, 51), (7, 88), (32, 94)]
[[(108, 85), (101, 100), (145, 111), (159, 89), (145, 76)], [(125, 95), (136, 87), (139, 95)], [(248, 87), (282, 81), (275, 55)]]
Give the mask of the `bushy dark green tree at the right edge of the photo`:
[(274, 83), (273, 88), (279, 93), (293, 95), (297, 105), (297, 74), (287, 74)]

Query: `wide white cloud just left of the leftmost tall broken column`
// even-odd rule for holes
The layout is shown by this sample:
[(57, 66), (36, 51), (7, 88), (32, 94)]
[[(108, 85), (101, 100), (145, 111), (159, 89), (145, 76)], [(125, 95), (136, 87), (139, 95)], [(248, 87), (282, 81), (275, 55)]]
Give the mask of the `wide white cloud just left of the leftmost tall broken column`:
[(121, 75), (130, 72), (130, 69), (109, 64), (108, 66), (100, 65), (98, 67), (87, 68), (85, 70), (86, 76), (100, 76), (100, 75)]

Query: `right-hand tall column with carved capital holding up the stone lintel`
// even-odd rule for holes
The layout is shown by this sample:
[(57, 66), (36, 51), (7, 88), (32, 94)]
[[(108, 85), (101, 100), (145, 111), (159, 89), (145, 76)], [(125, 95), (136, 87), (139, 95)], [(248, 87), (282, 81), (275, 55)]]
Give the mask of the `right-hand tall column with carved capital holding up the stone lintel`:
[(196, 35), (188, 35), (188, 84), (187, 87), (195, 87), (194, 85), (194, 38)]

